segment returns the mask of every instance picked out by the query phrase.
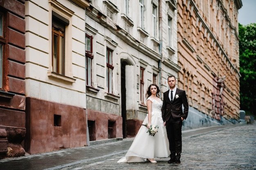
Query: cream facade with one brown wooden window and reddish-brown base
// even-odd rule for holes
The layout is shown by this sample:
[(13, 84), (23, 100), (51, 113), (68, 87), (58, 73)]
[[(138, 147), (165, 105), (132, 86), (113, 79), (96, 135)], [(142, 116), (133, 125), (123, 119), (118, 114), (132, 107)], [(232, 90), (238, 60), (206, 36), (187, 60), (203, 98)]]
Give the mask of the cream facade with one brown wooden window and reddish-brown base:
[(86, 0), (26, 1), (29, 154), (87, 145)]

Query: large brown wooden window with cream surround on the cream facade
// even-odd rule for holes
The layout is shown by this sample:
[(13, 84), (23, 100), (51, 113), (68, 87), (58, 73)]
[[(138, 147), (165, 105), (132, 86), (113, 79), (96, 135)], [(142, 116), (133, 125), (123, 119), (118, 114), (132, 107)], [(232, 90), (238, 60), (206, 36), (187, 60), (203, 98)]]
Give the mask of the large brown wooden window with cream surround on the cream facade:
[(74, 45), (72, 32), (74, 27), (70, 25), (74, 12), (56, 0), (49, 0), (49, 11), (51, 11), (49, 12), (51, 19), (49, 26), (52, 29), (52, 36), (49, 38), (51, 51), (49, 52), (47, 75), (55, 80), (75, 83), (76, 79), (73, 78), (72, 73), (72, 45)]

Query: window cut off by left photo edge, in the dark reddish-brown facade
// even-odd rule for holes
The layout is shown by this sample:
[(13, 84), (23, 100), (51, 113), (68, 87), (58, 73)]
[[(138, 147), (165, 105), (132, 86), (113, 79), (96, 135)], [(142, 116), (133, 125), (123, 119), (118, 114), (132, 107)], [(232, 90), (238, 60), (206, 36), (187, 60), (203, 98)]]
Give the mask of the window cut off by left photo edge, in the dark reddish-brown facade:
[(3, 15), (0, 13), (0, 89), (3, 87), (3, 47), (5, 44), (5, 38), (3, 37), (3, 26), (4, 26), (4, 18)]

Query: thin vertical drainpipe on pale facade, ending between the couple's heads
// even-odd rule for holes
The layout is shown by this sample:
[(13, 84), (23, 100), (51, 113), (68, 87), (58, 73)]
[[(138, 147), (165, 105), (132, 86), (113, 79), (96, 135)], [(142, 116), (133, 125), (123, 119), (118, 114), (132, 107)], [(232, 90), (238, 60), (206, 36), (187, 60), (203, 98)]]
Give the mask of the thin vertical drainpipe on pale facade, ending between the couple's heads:
[[(160, 56), (162, 57), (162, 0), (159, 0), (159, 41), (160, 41), (160, 44), (159, 44), (159, 54)], [(161, 60), (159, 60), (158, 62), (158, 69), (159, 69), (159, 89), (161, 91), (161, 80), (162, 80), (162, 58)], [(160, 96), (161, 97), (161, 96)]]

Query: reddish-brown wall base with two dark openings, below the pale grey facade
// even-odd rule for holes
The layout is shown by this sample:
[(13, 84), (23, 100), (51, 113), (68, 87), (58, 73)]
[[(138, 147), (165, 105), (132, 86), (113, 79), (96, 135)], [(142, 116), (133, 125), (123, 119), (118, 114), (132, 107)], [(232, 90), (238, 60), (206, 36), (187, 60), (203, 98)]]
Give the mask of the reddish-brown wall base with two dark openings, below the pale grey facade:
[[(97, 141), (110, 138), (122, 138), (122, 122), (121, 116), (87, 110), (88, 121), (92, 122), (89, 127), (90, 140)], [(89, 126), (89, 124), (88, 124)]]

